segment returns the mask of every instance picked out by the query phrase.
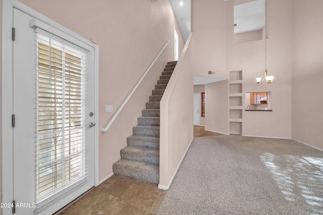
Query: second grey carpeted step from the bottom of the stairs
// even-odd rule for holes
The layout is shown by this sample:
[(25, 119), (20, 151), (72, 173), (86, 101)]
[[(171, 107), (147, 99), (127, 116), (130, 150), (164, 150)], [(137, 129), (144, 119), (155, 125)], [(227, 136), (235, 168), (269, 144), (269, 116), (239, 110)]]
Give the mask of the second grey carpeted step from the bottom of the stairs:
[(159, 150), (127, 146), (120, 150), (121, 159), (159, 165)]

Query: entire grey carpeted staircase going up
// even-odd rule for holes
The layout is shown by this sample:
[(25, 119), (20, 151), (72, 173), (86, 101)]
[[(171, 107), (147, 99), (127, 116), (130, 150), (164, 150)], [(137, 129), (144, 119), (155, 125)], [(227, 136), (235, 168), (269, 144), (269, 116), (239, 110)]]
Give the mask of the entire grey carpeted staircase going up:
[(127, 147), (120, 151), (121, 159), (113, 164), (115, 175), (158, 184), (159, 182), (159, 104), (177, 61), (168, 62), (164, 72), (127, 138)]

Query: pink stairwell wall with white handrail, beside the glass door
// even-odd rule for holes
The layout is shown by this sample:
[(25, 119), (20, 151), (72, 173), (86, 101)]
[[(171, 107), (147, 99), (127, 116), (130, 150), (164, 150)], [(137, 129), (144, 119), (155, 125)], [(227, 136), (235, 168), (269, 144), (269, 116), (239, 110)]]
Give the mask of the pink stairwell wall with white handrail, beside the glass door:
[[(165, 56), (160, 58), (163, 72), (168, 61), (174, 60), (174, 27), (179, 34), (179, 50), (184, 39), (169, 0), (20, 0), (21, 3), (48, 18), (93, 40), (99, 46), (99, 122), (98, 130), (105, 127), (123, 101), (137, 84), (167, 40), (171, 40)], [(77, 10), (75, 10), (77, 6)], [(158, 71), (157, 71), (158, 70)], [(151, 80), (150, 80), (151, 78)], [(154, 79), (154, 80), (152, 80)], [(143, 87), (147, 92), (158, 80), (146, 78)], [(143, 92), (138, 89), (138, 92)], [(120, 119), (111, 131), (99, 133), (99, 181), (113, 173), (112, 165), (120, 159), (120, 149), (126, 146), (126, 138), (132, 135), (137, 117), (148, 101), (146, 94), (136, 94), (126, 105)], [(114, 106), (113, 112), (105, 112), (105, 105)]]

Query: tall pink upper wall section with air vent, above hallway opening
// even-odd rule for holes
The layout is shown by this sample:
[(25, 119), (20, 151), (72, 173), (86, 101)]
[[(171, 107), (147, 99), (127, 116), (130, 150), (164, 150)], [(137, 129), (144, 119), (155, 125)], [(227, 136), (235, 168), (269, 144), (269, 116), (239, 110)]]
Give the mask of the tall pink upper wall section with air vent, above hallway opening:
[(225, 6), (226, 2), (222, 0), (196, 0), (192, 4), (194, 37), (191, 43), (194, 75), (207, 77), (208, 70), (211, 70), (216, 71), (213, 78), (228, 78)]

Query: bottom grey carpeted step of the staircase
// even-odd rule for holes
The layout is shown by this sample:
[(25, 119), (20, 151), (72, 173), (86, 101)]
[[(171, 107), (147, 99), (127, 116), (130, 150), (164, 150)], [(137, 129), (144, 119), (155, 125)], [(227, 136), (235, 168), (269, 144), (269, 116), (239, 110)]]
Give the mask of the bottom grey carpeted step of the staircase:
[(159, 182), (159, 165), (149, 165), (120, 159), (113, 164), (113, 170), (115, 175), (121, 175), (152, 184), (158, 184)]

